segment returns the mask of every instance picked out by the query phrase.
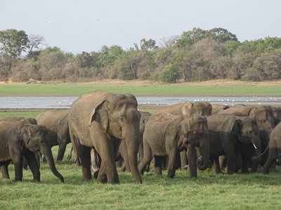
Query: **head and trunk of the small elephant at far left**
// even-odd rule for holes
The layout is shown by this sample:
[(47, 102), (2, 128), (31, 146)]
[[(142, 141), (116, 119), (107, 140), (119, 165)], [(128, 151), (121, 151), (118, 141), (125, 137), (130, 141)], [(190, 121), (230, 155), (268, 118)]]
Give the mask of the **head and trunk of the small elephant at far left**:
[(34, 153), (40, 151), (40, 153), (46, 157), (51, 172), (57, 176), (61, 182), (64, 182), (63, 176), (55, 168), (46, 127), (43, 125), (25, 124), (20, 130), (20, 139), (30, 151)]

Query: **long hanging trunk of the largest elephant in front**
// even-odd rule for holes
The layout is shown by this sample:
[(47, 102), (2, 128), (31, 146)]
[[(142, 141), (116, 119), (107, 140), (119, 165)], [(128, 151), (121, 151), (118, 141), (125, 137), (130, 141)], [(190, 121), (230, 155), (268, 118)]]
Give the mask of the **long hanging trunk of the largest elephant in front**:
[(125, 143), (128, 150), (128, 159), (131, 173), (133, 174), (133, 179), (136, 183), (142, 183), (141, 174), (138, 171), (138, 148), (141, 143), (140, 134), (136, 131), (133, 136), (129, 136), (128, 139), (125, 139)]

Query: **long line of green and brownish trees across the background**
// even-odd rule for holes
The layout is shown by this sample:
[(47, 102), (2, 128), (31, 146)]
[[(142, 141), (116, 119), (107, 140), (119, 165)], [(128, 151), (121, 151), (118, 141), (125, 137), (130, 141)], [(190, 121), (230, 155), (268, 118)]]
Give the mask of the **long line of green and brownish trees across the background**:
[[(281, 78), (281, 38), (240, 42), (227, 29), (194, 28), (156, 41), (143, 38), (128, 50), (119, 45), (74, 55), (58, 47), (44, 48), (44, 37), (25, 31), (0, 31), (0, 80), (63, 80), (102, 78), (157, 80), (164, 83), (229, 78)], [(26, 52), (25, 57), (20, 57)]]

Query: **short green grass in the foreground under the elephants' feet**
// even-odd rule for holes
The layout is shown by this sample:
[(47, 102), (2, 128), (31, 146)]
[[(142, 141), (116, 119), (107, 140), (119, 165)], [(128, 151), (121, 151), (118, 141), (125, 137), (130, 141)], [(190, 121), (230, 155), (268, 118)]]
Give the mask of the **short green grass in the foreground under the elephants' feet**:
[[(69, 150), (70, 145), (65, 154)], [(56, 151), (54, 147), (54, 156)], [(280, 209), (281, 205), (281, 167), (268, 175), (215, 175), (208, 169), (197, 179), (180, 170), (174, 179), (166, 178), (166, 172), (154, 176), (152, 167), (142, 176), (142, 185), (126, 172), (119, 172), (120, 184), (110, 185), (82, 181), (81, 169), (72, 161), (56, 163), (65, 183), (45, 163), (41, 183), (32, 182), (30, 170), (24, 171), (22, 182), (0, 179), (1, 209)], [(13, 179), (13, 165), (9, 172)]]

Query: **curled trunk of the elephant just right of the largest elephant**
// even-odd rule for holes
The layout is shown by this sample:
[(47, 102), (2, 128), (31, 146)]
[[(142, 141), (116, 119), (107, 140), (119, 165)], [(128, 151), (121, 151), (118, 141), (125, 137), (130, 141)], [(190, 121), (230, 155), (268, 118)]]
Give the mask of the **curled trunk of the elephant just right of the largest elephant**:
[(209, 135), (205, 134), (204, 139), (200, 144), (202, 157), (197, 159), (197, 168), (200, 170), (205, 170), (209, 167), (210, 162), (210, 143)]

